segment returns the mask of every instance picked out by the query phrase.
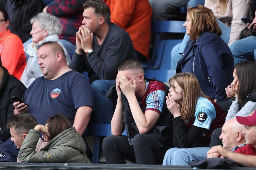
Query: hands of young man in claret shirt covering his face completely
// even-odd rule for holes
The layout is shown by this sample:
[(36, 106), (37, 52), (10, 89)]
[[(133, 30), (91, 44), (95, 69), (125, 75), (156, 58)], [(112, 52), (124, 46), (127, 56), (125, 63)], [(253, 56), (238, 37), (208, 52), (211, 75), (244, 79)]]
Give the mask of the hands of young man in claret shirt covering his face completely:
[(126, 76), (124, 76), (124, 74), (116, 75), (116, 92), (118, 98), (121, 97), (121, 92), (123, 92), (126, 98), (128, 98), (129, 95), (135, 94), (137, 81), (135, 78), (132, 78), (131, 80), (133, 84), (126, 78)]

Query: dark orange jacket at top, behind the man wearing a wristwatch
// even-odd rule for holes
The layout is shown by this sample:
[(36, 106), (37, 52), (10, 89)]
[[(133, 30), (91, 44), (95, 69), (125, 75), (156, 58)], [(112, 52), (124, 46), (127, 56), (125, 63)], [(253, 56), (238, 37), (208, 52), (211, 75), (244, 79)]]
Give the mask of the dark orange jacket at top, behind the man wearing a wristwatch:
[(134, 49), (148, 59), (152, 8), (148, 0), (104, 0), (111, 22), (129, 33)]

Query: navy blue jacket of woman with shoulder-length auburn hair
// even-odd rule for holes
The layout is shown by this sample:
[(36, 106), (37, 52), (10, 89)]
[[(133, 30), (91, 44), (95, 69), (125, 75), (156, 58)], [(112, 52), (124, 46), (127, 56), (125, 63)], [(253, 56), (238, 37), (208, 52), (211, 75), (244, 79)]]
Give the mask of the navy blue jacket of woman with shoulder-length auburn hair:
[(215, 33), (202, 33), (196, 41), (188, 40), (176, 73), (193, 73), (205, 95), (223, 100), (233, 70), (234, 57), (228, 45)]

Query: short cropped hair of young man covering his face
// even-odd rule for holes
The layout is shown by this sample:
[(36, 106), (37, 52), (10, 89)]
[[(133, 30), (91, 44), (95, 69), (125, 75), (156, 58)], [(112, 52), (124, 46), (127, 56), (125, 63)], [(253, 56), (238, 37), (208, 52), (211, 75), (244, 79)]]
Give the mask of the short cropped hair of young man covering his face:
[(143, 66), (138, 60), (130, 59), (122, 63), (119, 66), (118, 71), (125, 71), (125, 70), (140, 70), (141, 73), (143, 73), (144, 75)]

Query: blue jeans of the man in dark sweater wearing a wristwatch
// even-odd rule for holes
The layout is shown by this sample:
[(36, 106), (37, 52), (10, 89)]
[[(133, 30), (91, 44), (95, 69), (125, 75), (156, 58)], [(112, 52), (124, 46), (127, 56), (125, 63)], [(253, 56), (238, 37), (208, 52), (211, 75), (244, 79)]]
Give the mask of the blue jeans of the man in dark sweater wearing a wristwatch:
[(95, 104), (95, 123), (111, 123), (114, 114), (117, 97), (106, 98), (109, 87), (116, 80), (95, 80), (92, 83), (92, 91)]

